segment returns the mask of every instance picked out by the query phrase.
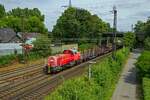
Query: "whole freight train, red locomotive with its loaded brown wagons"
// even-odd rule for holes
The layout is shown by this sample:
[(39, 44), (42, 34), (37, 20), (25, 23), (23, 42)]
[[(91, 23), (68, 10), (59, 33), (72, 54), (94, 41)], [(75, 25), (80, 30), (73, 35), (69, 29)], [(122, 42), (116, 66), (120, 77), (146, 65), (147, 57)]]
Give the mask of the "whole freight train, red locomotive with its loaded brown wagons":
[(76, 49), (64, 50), (62, 54), (48, 57), (44, 71), (46, 74), (56, 73), (68, 67), (75, 66), (87, 60), (96, 58), (100, 55), (106, 54), (112, 50), (112, 47), (94, 47), (84, 51), (77, 51)]

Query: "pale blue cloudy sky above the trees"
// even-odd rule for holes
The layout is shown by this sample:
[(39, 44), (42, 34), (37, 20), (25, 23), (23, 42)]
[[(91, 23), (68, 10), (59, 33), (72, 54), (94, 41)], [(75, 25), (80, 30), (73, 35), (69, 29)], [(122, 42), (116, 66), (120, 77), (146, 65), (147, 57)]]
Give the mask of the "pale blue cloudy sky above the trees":
[[(6, 10), (12, 8), (39, 8), (45, 15), (45, 24), (51, 31), (57, 18), (66, 9), (69, 0), (0, 0)], [(118, 9), (118, 30), (130, 31), (131, 25), (138, 20), (145, 21), (150, 16), (149, 0), (72, 0), (75, 7), (85, 8), (92, 14), (97, 14), (112, 25), (113, 14), (110, 12), (116, 5)]]

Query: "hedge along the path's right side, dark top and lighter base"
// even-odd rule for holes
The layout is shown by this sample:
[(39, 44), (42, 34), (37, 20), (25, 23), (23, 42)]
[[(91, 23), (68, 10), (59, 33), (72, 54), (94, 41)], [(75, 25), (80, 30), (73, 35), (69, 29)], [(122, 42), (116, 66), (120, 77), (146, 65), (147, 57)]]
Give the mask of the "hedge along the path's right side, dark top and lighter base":
[(150, 51), (144, 51), (136, 63), (139, 79), (142, 83), (143, 98), (150, 100)]

